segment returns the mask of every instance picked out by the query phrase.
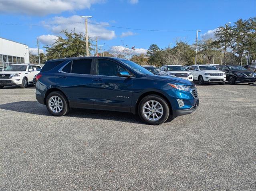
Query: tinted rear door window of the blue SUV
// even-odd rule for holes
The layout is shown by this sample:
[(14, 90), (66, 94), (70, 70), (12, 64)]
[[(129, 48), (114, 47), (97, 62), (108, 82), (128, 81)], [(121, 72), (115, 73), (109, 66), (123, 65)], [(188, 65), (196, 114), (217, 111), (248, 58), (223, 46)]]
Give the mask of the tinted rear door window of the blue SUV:
[(91, 74), (92, 59), (73, 60), (71, 73)]

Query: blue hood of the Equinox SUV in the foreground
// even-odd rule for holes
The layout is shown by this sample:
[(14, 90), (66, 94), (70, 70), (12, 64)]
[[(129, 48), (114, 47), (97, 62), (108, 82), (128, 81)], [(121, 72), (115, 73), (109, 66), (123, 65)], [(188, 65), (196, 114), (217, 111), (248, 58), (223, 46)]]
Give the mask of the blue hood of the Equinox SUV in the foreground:
[(194, 83), (191, 83), (188, 80), (177, 78), (177, 77), (171, 77), (171, 76), (145, 75), (145, 77), (155, 81), (165, 81), (166, 83), (173, 83), (176, 85), (185, 85), (185, 86), (194, 85)]

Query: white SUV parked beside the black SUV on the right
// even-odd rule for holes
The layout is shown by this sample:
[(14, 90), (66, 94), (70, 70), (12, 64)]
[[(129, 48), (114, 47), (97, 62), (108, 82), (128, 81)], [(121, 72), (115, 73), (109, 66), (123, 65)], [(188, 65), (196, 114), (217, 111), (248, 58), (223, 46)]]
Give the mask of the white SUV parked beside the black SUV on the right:
[(189, 67), (189, 72), (193, 75), (193, 79), (198, 81), (199, 85), (204, 83), (219, 83), (224, 85), (226, 81), (226, 74), (219, 71), (213, 65), (193, 65)]

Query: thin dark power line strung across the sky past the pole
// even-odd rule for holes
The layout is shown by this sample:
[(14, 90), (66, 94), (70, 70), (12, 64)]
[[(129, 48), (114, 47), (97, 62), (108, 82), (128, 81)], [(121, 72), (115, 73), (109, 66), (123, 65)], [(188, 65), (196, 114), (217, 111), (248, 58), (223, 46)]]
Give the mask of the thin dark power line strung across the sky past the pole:
[[(79, 24), (84, 22), (74, 22), (74, 23), (60, 23), (60, 24), (8, 24), (8, 23), (0, 23), (0, 25), (15, 25), (15, 26), (54, 26), (54, 25), (68, 25), (68, 24)], [(121, 29), (128, 29), (128, 30), (140, 30), (140, 31), (151, 31), (151, 32), (191, 32), (191, 31), (197, 31), (197, 30), (151, 30), (151, 29), (139, 29), (139, 28), (128, 28), (128, 27), (119, 27), (119, 26), (112, 26), (107, 24), (97, 24), (88, 22), (93, 25), (98, 26), (105, 26), (105, 27), (113, 27), (113, 28), (121, 28)], [(204, 29), (202, 31), (206, 31), (210, 29)]]

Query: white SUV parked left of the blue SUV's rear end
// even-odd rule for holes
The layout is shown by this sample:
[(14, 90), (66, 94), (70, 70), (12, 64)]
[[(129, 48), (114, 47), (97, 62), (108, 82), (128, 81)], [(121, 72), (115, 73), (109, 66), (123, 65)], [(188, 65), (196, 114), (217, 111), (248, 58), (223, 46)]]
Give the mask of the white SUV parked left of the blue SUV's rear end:
[(13, 64), (0, 72), (0, 89), (4, 86), (20, 85), (26, 88), (33, 83), (34, 76), (41, 70), (39, 65), (34, 64)]

